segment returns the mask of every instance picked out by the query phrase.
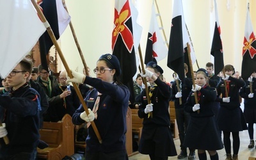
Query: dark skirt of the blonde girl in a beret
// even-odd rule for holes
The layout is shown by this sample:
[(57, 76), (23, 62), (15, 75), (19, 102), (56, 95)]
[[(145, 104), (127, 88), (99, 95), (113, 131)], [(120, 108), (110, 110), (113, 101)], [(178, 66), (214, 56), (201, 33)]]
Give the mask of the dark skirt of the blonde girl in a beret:
[(222, 149), (223, 143), (214, 116), (191, 116), (184, 140), (184, 146), (200, 150)]

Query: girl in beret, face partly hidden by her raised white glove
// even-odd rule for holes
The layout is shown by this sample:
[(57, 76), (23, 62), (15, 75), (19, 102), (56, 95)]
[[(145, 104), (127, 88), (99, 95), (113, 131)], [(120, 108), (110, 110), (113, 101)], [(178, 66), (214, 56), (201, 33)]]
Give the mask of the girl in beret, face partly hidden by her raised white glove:
[[(147, 63), (145, 74), (149, 86), (148, 104), (146, 92), (141, 93), (141, 106), (138, 115), (143, 118), (143, 128), (139, 144), (141, 154), (149, 154), (150, 159), (167, 160), (168, 156), (177, 156), (170, 130), (169, 101), (171, 88), (163, 81), (163, 69), (154, 61)], [(152, 112), (153, 116), (149, 116)]]

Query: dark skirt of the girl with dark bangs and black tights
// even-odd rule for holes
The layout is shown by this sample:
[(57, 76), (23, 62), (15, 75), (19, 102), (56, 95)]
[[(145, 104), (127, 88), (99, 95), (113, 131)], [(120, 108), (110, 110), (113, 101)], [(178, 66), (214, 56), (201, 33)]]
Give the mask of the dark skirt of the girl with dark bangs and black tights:
[(217, 121), (221, 131), (239, 132), (247, 129), (241, 108), (227, 109), (221, 107)]

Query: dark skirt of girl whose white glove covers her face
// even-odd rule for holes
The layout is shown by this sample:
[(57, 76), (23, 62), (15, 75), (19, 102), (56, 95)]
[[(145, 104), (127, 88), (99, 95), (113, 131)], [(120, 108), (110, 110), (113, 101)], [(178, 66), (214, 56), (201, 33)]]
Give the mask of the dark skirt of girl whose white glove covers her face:
[(170, 127), (142, 128), (139, 152), (141, 154), (155, 154), (157, 157), (177, 156)]

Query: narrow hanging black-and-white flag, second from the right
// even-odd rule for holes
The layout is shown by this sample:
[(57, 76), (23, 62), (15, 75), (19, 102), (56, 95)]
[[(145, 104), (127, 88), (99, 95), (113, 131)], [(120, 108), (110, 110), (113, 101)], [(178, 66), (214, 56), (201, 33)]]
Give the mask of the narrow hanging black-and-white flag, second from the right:
[(216, 0), (214, 0), (214, 7), (215, 7), (215, 27), (214, 27), (214, 35), (212, 38), (211, 55), (214, 56), (214, 73), (219, 74), (221, 70), (224, 68), (224, 60), (223, 60), (223, 49), (222, 49), (222, 42), (221, 42), (221, 29), (220, 29)]

